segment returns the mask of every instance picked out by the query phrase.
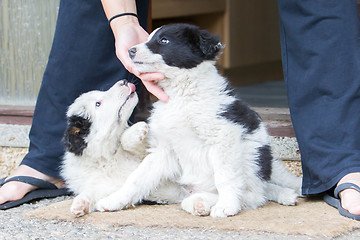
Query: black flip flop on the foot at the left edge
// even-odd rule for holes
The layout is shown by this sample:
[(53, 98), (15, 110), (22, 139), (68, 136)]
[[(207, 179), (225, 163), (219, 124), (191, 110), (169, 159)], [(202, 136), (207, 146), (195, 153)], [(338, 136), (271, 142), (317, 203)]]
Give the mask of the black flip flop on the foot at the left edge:
[(10, 179), (5, 180), (6, 178), (3, 178), (0, 180), (0, 187), (4, 185), (7, 182), (10, 181), (18, 181), (23, 183), (28, 183), (31, 185), (34, 185), (38, 187), (37, 189), (27, 193), (22, 199), (12, 201), (12, 202), (6, 202), (4, 204), (0, 205), (0, 210), (6, 210), (9, 208), (20, 206), (24, 203), (31, 202), (33, 200), (39, 200), (44, 198), (54, 198), (58, 196), (68, 196), (72, 193), (67, 188), (57, 188), (54, 184), (49, 183), (47, 181), (29, 177), (29, 176), (18, 176), (13, 177)]

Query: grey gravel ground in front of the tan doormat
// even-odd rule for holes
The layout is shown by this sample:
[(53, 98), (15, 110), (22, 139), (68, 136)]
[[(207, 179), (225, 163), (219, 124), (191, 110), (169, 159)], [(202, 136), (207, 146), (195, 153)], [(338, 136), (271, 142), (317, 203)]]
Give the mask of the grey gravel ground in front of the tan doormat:
[[(0, 239), (268, 239), (268, 240), (305, 240), (324, 239), (311, 238), (304, 235), (278, 235), (266, 232), (225, 232), (204, 229), (176, 229), (176, 228), (137, 228), (137, 227), (109, 227), (100, 229), (92, 225), (73, 223), (62, 220), (41, 220), (23, 218), (26, 212), (54, 202), (63, 201), (70, 197), (45, 199), (21, 207), (0, 211)], [(336, 239), (360, 239), (360, 231), (340, 236)]]

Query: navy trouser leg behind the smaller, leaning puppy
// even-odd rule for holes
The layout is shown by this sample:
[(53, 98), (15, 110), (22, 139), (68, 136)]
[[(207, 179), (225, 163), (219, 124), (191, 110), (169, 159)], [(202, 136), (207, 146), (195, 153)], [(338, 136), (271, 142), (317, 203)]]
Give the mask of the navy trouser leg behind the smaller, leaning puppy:
[[(146, 29), (149, 2), (137, 1)], [(115, 55), (115, 42), (99, 0), (61, 0), (48, 64), (30, 130), (29, 153), (22, 164), (60, 178), (67, 107), (81, 94), (107, 90), (134, 79)]]

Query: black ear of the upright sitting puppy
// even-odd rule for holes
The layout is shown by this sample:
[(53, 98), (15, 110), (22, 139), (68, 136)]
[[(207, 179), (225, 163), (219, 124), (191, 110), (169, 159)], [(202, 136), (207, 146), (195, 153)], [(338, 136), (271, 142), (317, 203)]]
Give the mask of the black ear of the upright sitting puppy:
[(206, 30), (199, 30), (199, 46), (206, 60), (216, 60), (223, 49), (219, 38)]

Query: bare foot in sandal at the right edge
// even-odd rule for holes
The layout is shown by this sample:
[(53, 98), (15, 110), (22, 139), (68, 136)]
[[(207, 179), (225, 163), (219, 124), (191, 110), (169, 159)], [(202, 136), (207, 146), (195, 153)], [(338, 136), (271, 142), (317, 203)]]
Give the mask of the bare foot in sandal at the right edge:
[[(345, 175), (338, 183), (354, 183), (360, 186), (360, 173)], [(340, 192), (342, 207), (351, 214), (360, 215), (360, 193), (354, 189), (345, 189)]]

